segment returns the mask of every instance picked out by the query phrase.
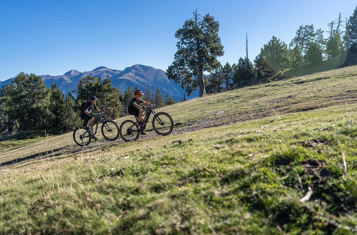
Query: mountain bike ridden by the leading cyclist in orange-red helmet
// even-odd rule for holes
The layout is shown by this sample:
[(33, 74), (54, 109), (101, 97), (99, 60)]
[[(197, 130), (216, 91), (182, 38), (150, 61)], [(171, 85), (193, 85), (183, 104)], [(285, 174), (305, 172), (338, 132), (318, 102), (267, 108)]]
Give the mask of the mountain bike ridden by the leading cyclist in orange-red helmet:
[(152, 128), (159, 135), (169, 135), (171, 131), (174, 129), (174, 121), (169, 114), (166, 112), (158, 112), (156, 113), (155, 105), (144, 106), (146, 112), (144, 112), (144, 122), (145, 125), (139, 126), (137, 124), (138, 118), (135, 116), (136, 121), (125, 120), (121, 123), (119, 127), (120, 137), (124, 141), (133, 141), (139, 138), (140, 134), (144, 134), (144, 130), (149, 123), (150, 115), (153, 114), (152, 118)]

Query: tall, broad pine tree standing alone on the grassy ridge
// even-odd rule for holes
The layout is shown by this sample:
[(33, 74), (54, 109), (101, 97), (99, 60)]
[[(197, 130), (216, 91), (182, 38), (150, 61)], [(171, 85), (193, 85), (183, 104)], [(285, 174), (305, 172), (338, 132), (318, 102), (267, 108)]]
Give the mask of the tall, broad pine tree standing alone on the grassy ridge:
[(217, 56), (222, 56), (223, 46), (218, 37), (219, 23), (209, 14), (193, 12), (193, 19), (186, 20), (176, 31), (177, 52), (174, 62), (166, 70), (169, 79), (180, 83), (190, 96), (200, 87), (200, 96), (206, 95), (203, 71), (211, 72), (221, 66)]

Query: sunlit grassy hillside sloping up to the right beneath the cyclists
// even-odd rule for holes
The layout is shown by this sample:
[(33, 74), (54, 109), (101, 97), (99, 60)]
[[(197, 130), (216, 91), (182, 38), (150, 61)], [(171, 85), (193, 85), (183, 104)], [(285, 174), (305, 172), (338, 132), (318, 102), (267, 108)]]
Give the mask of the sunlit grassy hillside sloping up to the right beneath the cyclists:
[(356, 77), (175, 104), (172, 134), (136, 142), (0, 141), (0, 234), (356, 233)]

